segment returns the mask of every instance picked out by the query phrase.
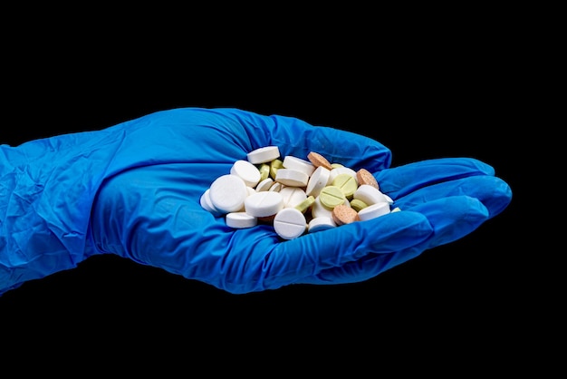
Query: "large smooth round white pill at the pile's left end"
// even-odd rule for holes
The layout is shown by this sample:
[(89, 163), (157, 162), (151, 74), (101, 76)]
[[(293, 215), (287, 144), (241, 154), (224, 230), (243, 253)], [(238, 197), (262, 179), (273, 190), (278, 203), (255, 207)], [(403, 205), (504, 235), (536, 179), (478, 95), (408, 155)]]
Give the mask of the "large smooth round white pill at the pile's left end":
[(245, 181), (239, 176), (226, 174), (216, 178), (209, 187), (209, 198), (213, 207), (222, 213), (244, 209), (248, 190)]

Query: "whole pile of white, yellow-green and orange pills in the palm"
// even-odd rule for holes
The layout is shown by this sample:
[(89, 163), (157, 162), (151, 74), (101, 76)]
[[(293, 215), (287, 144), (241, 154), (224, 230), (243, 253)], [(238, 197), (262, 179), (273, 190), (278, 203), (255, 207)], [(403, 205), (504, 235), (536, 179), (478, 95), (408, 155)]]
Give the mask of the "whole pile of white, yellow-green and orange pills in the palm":
[(236, 160), (229, 173), (211, 183), (200, 204), (225, 217), (230, 228), (269, 223), (283, 239), (399, 211), (369, 170), (331, 163), (315, 151), (307, 160), (291, 155), (282, 160), (277, 146)]

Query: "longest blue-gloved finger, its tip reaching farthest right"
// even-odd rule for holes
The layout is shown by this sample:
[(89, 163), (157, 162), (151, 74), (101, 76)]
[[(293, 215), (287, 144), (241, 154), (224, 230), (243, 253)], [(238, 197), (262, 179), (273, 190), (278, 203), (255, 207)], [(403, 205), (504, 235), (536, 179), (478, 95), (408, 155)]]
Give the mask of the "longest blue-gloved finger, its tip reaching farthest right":
[(504, 180), (492, 176), (473, 176), (415, 190), (396, 199), (395, 204), (400, 209), (414, 210), (430, 201), (459, 195), (479, 199), (488, 210), (489, 219), (501, 213), (512, 200), (512, 190)]

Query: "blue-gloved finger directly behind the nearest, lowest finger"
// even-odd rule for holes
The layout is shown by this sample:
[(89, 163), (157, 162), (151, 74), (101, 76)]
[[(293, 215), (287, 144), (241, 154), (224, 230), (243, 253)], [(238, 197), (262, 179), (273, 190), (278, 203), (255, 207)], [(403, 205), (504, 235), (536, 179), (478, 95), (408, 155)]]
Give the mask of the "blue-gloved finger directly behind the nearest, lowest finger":
[[(418, 257), (428, 248), (434, 248), (465, 237), (488, 219), (488, 210), (483, 203), (467, 196), (437, 199), (420, 204), (412, 210), (390, 213), (379, 219), (389, 219), (397, 213), (414, 212), (418, 212), (428, 219), (428, 223), (433, 229), (433, 233), (429, 234), (428, 238), (415, 239), (415, 244), (406, 248), (390, 250), (389, 254), (380, 254), (380, 251), (374, 252), (356, 261), (345, 263), (341, 267), (332, 267), (310, 277), (303, 277), (297, 283), (346, 284), (368, 280), (391, 267), (399, 266), (411, 258)], [(365, 222), (367, 221), (362, 222), (362, 224)], [(356, 244), (357, 242), (353, 243)]]

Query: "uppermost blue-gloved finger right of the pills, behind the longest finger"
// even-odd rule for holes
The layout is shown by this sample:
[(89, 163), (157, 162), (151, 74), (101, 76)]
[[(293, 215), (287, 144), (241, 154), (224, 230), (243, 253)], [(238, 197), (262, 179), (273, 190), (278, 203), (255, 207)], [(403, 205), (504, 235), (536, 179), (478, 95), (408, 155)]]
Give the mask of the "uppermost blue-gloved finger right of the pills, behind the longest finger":
[(443, 181), (477, 175), (494, 176), (492, 166), (472, 158), (422, 160), (374, 174), (380, 190), (399, 199), (415, 190)]

